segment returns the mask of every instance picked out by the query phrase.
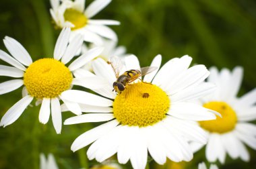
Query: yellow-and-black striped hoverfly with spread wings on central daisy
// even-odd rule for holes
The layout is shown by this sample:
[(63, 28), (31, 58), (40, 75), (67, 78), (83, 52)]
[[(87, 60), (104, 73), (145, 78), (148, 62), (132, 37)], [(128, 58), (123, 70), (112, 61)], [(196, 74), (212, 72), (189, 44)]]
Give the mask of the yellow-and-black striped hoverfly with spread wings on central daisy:
[[(115, 72), (115, 76), (117, 78), (117, 80), (113, 82), (113, 88), (114, 88), (113, 91), (117, 93), (121, 93), (122, 91), (124, 91), (125, 86), (127, 84), (157, 69), (157, 67), (155, 66), (147, 66), (147, 67), (141, 68), (141, 70), (135, 70), (135, 69), (127, 70), (123, 74), (119, 75), (121, 69), (123, 68), (122, 60), (117, 57), (112, 57), (110, 58), (110, 61), (108, 61), (108, 64), (110, 64), (111, 67), (113, 68)], [(141, 82), (143, 81), (141, 80)]]

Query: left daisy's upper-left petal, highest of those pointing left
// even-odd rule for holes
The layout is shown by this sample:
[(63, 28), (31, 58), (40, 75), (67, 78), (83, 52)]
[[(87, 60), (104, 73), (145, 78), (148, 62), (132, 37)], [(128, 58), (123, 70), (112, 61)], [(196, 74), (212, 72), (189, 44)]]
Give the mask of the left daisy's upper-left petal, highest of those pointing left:
[(24, 64), (25, 66), (32, 64), (32, 58), (30, 57), (30, 54), (28, 54), (26, 49), (17, 40), (5, 36), (3, 43), (11, 55), (20, 63)]

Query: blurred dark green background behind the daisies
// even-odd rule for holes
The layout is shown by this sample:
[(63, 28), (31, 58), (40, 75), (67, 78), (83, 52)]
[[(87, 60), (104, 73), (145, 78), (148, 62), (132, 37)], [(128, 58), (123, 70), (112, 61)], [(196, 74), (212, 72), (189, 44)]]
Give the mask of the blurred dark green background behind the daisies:
[[(86, 1), (86, 5), (91, 2)], [(1, 0), (0, 39), (15, 38), (33, 60), (52, 57), (60, 30), (54, 29), (49, 9), (49, 0)], [(112, 27), (119, 37), (119, 45), (138, 56), (141, 66), (148, 66), (156, 54), (162, 54), (163, 62), (189, 54), (193, 63), (207, 67), (243, 66), (245, 76), (239, 95), (255, 87), (255, 0), (113, 0), (94, 19), (121, 21), (121, 25)], [(2, 41), (0, 49), (7, 51)], [(7, 79), (0, 77), (0, 82)], [(21, 91), (0, 96), (0, 117), (21, 99)], [(92, 126), (63, 126), (61, 135), (57, 135), (51, 119), (47, 125), (39, 123), (39, 109), (29, 107), (18, 121), (0, 128), (0, 168), (38, 168), (40, 152), (53, 153), (60, 168), (96, 164), (87, 162), (87, 148), (75, 153), (70, 150), (75, 137)], [(71, 116), (65, 112), (63, 120)], [(256, 152), (249, 150), (249, 163), (227, 158), (226, 165), (220, 168), (256, 168)], [(197, 168), (198, 162), (206, 161), (203, 156), (204, 150), (185, 165)], [(158, 166), (150, 162), (150, 168)]]

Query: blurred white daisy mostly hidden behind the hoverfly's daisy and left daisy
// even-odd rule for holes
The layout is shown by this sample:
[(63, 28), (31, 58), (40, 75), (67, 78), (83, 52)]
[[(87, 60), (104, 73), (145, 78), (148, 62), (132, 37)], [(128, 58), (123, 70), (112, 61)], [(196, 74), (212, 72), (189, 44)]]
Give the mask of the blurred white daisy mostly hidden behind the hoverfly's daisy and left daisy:
[[(113, 40), (103, 40), (103, 44), (101, 46), (102, 48), (104, 48), (104, 50), (100, 54), (100, 56), (98, 56), (98, 58), (102, 58), (103, 60), (108, 61), (110, 59), (110, 56), (118, 56), (120, 58), (128, 56), (128, 54), (126, 54), (126, 48), (124, 46), (117, 46), (117, 42)], [(82, 54), (96, 47), (97, 46), (95, 44), (90, 44), (90, 46), (86, 46), (86, 44), (83, 44)], [(92, 64), (90, 63), (86, 64), (83, 68), (85, 68), (86, 70), (92, 70)]]

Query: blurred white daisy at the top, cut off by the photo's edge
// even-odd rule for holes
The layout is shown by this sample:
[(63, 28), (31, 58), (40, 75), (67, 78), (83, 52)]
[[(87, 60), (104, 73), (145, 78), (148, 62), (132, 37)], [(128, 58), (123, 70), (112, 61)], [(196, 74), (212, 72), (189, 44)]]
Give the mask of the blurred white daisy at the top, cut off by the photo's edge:
[(85, 0), (50, 0), (51, 16), (58, 27), (71, 27), (71, 39), (75, 34), (84, 35), (84, 41), (101, 45), (102, 38), (117, 41), (117, 35), (106, 25), (119, 25), (119, 21), (91, 19), (111, 0), (95, 0), (85, 9)]

